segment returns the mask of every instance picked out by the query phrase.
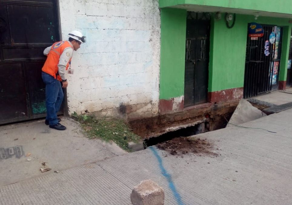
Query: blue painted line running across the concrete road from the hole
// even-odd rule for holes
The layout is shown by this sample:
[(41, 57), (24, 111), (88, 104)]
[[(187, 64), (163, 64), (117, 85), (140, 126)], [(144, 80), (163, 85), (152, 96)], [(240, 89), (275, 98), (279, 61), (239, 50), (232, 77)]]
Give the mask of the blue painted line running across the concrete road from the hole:
[(161, 174), (167, 179), (168, 181), (168, 186), (170, 188), (170, 190), (172, 191), (172, 194), (174, 195), (174, 198), (176, 199), (176, 201), (178, 202), (178, 205), (184, 205), (184, 203), (181, 201), (181, 195), (178, 193), (178, 191), (175, 188), (175, 185), (171, 179), (171, 175), (168, 174), (168, 172), (166, 171), (166, 169), (164, 168), (163, 164), (162, 164), (162, 159), (159, 156), (158, 152), (156, 151), (155, 148), (150, 147), (149, 149), (151, 149), (151, 151), (154, 153), (155, 157), (158, 160), (158, 164), (159, 164), (159, 168), (161, 170)]

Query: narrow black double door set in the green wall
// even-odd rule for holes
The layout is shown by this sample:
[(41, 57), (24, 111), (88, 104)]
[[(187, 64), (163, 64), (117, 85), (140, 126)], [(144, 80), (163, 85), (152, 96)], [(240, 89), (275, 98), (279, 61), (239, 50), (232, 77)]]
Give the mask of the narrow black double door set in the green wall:
[(207, 102), (210, 15), (187, 13), (184, 107)]

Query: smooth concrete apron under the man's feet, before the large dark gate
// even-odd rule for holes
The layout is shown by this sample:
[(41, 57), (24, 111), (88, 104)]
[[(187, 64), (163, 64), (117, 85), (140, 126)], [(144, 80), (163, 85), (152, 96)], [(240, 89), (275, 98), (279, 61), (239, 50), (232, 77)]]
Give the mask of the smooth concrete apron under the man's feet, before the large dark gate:
[[(0, 127), (0, 186), (127, 154), (114, 143), (86, 138), (72, 119), (62, 118), (65, 131), (51, 129), (44, 122), (45, 119)], [(40, 168), (52, 170), (41, 173)]]

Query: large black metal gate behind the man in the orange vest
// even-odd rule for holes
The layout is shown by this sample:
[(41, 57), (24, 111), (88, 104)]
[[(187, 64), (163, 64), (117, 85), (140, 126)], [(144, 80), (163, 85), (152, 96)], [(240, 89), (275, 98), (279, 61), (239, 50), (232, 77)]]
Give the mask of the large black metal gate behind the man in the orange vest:
[(60, 39), (55, 0), (0, 0), (0, 124), (45, 116), (43, 50)]

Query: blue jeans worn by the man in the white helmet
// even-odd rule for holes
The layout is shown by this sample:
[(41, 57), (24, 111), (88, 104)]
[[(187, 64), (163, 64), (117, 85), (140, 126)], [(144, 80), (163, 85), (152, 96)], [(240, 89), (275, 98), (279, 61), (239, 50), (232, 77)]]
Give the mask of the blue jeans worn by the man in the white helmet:
[(49, 125), (56, 125), (58, 124), (57, 112), (64, 98), (61, 82), (45, 72), (41, 72), (41, 77), (46, 84), (46, 120), (49, 121)]

